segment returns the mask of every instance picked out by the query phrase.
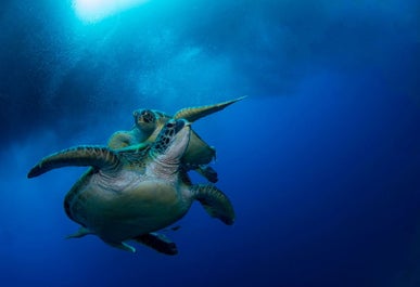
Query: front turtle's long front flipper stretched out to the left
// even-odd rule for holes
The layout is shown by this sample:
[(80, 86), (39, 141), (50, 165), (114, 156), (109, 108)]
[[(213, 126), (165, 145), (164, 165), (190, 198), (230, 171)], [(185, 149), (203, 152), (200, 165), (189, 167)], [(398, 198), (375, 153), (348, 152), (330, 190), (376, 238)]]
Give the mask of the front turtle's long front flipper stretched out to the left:
[(44, 157), (30, 169), (28, 179), (62, 167), (93, 167), (114, 170), (119, 166), (118, 155), (103, 146), (76, 146)]

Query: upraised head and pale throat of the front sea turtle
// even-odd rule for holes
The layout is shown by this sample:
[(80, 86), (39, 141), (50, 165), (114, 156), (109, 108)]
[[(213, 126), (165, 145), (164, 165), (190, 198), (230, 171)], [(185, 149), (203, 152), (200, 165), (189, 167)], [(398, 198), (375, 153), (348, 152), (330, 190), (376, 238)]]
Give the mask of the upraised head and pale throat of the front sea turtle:
[(167, 162), (179, 161), (190, 142), (190, 122), (187, 120), (168, 120), (152, 145), (152, 155)]

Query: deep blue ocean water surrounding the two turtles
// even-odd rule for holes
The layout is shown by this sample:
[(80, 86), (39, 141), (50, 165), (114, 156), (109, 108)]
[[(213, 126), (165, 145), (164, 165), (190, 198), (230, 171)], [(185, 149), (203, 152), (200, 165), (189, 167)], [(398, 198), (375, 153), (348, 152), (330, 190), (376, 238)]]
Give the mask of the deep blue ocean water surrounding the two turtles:
[[(1, 286), (420, 286), (418, 1), (76, 2), (0, 4)], [(133, 109), (242, 95), (193, 123), (237, 221), (194, 204), (176, 257), (64, 239), (85, 169), (26, 179)]]

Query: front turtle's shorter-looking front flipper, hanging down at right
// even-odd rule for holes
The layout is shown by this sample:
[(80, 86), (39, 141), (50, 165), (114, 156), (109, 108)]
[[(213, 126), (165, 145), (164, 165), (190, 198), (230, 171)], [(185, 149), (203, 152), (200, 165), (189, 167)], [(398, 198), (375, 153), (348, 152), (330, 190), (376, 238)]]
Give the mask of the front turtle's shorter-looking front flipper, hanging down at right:
[(212, 218), (217, 218), (227, 225), (233, 224), (233, 206), (221, 191), (211, 184), (196, 184), (190, 188), (194, 199), (200, 201)]

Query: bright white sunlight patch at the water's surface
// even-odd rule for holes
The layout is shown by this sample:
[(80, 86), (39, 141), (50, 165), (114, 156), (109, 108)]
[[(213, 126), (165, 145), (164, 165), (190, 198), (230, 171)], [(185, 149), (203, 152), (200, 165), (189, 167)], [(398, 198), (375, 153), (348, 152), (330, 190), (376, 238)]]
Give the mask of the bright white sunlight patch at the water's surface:
[(73, 0), (77, 16), (85, 22), (98, 22), (149, 0)]

